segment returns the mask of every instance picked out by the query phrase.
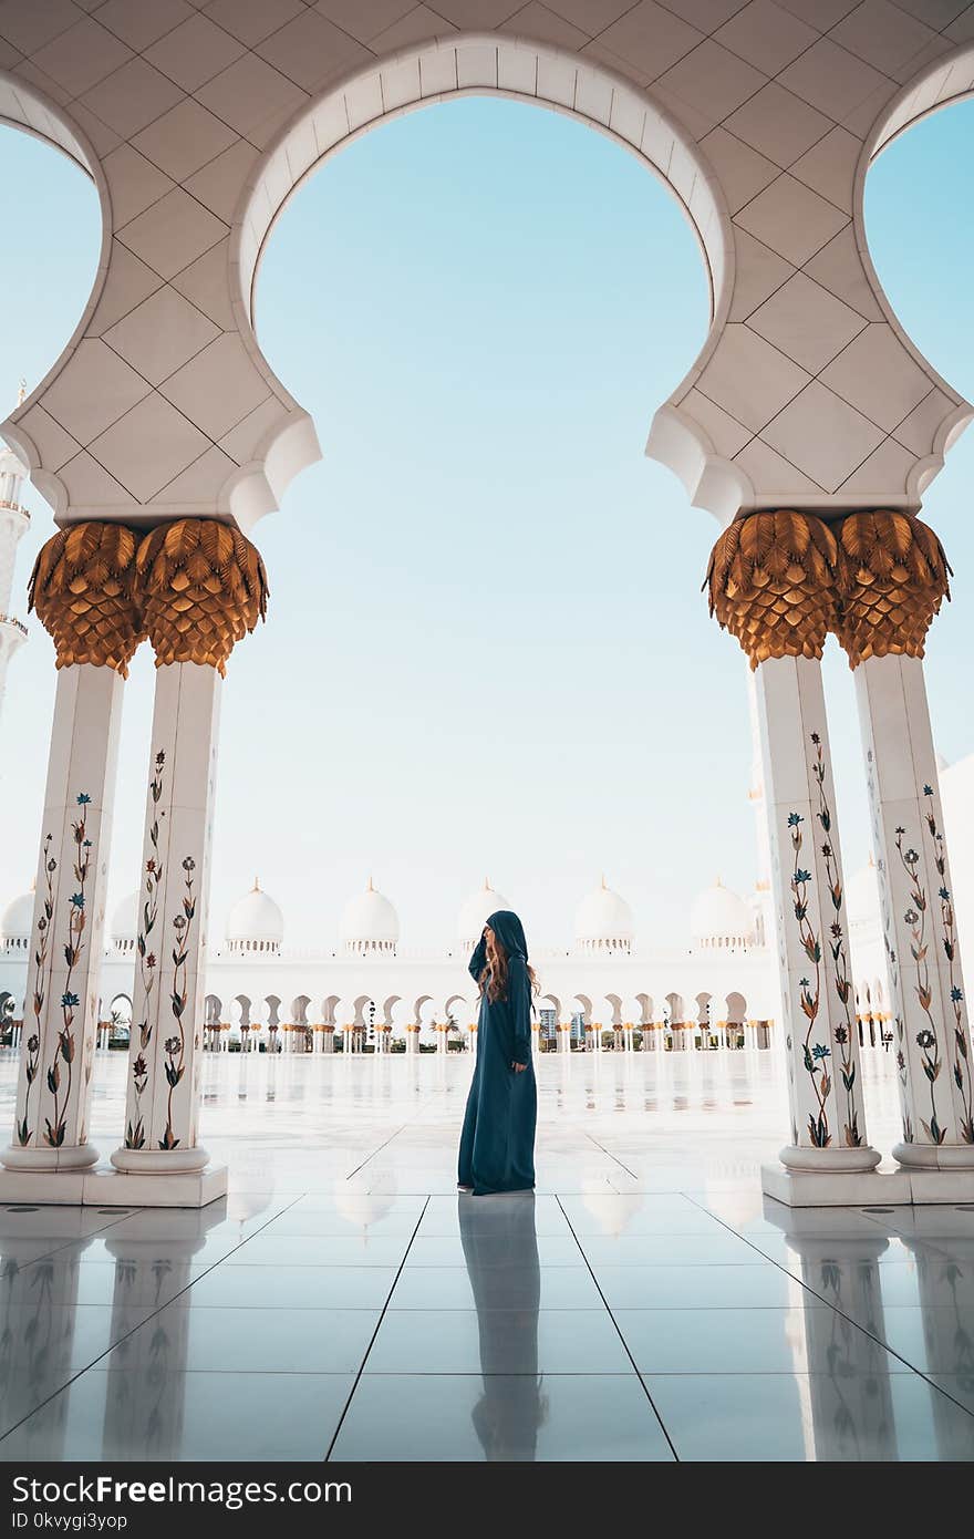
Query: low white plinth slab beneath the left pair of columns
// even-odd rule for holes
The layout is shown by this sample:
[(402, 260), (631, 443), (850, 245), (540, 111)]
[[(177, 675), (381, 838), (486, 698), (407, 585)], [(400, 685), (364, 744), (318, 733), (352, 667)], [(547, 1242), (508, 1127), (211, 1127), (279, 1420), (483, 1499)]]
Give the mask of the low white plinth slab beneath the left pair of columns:
[(0, 1170), (0, 1203), (71, 1208), (205, 1208), (226, 1196), (226, 1165), (169, 1176), (135, 1176), (98, 1165), (86, 1171)]

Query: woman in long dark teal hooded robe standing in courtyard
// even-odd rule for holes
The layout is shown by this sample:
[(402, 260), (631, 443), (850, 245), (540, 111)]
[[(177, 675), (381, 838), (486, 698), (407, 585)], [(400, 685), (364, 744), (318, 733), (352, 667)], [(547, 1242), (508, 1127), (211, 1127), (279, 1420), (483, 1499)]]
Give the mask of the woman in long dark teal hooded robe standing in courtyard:
[(469, 970), (480, 988), (480, 1020), (457, 1185), (475, 1197), (532, 1191), (537, 1085), (531, 1062), (531, 993), (537, 993), (537, 983), (517, 914), (508, 910), (491, 914)]

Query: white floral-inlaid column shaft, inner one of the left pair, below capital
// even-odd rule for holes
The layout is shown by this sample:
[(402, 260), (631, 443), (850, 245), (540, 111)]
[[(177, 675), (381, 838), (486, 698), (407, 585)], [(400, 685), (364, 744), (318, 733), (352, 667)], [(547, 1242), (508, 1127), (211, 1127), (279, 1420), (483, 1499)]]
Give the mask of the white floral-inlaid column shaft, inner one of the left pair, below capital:
[(197, 1116), (222, 686), (208, 663), (155, 674), (125, 1142), (112, 1154), (132, 1174), (209, 1160)]

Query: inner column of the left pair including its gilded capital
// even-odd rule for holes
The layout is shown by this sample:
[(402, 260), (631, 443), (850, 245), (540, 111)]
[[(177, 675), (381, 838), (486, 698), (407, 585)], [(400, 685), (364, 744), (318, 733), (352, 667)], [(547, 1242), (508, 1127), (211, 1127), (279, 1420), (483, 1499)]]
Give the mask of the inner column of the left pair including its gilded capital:
[[(226, 659), (263, 614), (266, 583), (249, 540), (211, 519), (152, 529), (137, 568), (157, 676), (129, 1093), (112, 1163), (172, 1176), (209, 1159), (197, 1117), (217, 726)], [(217, 1190), (225, 1171), (206, 1200)]]

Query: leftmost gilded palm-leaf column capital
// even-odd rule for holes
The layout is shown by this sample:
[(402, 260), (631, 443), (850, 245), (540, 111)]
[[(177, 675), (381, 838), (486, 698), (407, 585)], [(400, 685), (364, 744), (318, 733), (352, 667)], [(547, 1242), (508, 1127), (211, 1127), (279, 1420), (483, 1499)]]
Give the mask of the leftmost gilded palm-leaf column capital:
[(134, 591), (137, 543), (123, 523), (71, 523), (42, 545), (28, 608), (54, 637), (58, 668), (97, 663), (128, 677), (145, 636)]

